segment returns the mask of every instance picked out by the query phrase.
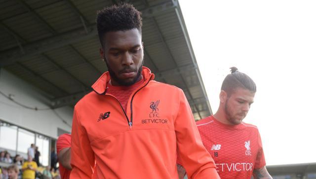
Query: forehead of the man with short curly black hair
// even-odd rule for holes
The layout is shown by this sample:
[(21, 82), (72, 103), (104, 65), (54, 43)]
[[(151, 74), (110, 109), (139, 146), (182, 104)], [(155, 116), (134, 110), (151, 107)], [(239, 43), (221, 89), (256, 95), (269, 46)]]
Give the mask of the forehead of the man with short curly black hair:
[(128, 48), (142, 44), (142, 36), (138, 29), (107, 32), (104, 36), (105, 48)]

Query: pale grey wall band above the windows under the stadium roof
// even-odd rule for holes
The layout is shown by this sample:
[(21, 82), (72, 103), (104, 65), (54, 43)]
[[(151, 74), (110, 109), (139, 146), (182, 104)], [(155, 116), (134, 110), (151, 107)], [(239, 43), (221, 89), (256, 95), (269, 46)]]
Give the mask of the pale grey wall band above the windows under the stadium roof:
[[(0, 91), (5, 95), (12, 94), (15, 101), (26, 106), (38, 109), (49, 108), (47, 105), (49, 94), (45, 94), (3, 68), (0, 69)], [(61, 107), (55, 109), (55, 112), (69, 125), (72, 124), (72, 107)], [(58, 137), (58, 128), (71, 132), (71, 127), (65, 124), (55, 112), (51, 109), (27, 109), (0, 94), (0, 120), (52, 138)]]

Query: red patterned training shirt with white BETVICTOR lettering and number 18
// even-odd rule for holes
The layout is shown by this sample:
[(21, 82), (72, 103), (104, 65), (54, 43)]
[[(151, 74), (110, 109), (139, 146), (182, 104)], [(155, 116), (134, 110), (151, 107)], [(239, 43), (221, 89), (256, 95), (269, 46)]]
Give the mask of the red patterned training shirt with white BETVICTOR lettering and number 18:
[(256, 126), (226, 125), (209, 116), (197, 122), (197, 129), (221, 179), (250, 179), (253, 169), (266, 165)]

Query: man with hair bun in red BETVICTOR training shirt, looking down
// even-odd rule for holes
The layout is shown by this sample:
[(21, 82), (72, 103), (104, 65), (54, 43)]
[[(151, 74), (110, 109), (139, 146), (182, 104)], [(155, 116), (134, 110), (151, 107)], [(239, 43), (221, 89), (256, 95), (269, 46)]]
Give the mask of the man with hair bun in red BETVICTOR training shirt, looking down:
[(197, 129), (221, 179), (272, 179), (258, 128), (242, 122), (253, 103), (256, 84), (236, 67), (231, 70), (223, 81), (217, 112), (198, 121)]

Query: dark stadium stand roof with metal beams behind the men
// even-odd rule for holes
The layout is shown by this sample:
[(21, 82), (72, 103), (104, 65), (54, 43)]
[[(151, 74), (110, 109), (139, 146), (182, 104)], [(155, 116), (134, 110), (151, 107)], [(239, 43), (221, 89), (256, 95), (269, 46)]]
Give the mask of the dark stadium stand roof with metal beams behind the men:
[[(52, 108), (74, 105), (105, 71), (96, 11), (117, 0), (1, 0), (0, 67), (45, 91)], [(196, 120), (211, 108), (177, 0), (129, 0), (143, 13), (145, 64), (184, 90)]]

